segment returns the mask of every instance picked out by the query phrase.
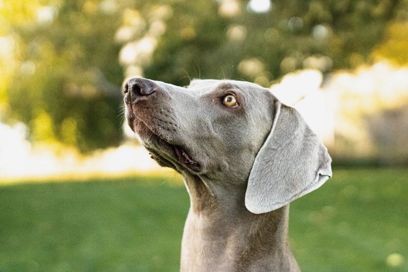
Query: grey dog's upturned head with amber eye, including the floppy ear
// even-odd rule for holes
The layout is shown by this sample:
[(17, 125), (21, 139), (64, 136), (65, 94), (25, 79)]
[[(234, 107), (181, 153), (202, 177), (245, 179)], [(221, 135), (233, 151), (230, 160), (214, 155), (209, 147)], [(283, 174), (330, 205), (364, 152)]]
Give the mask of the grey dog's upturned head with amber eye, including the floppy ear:
[(245, 187), (251, 212), (284, 206), (331, 176), (322, 142), (259, 85), (193, 80), (183, 88), (134, 78), (124, 92), (128, 124), (153, 159), (183, 175)]

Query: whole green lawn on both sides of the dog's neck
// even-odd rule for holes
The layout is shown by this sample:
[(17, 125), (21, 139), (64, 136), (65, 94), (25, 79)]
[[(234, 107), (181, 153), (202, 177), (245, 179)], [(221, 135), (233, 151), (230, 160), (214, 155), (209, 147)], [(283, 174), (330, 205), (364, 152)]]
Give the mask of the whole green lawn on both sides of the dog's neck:
[[(0, 186), (0, 271), (176, 272), (188, 205), (168, 178)], [(407, 272), (408, 170), (336, 170), (289, 228), (303, 272)]]

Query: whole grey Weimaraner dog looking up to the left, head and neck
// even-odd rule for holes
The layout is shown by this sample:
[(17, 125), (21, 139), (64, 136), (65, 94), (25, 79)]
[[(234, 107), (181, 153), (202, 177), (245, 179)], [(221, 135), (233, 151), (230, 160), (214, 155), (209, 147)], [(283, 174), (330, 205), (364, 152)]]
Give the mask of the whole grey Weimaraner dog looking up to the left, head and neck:
[(181, 173), (191, 204), (182, 272), (297, 272), (289, 202), (332, 175), (331, 158), (299, 113), (248, 82), (187, 88), (133, 78), (126, 119), (161, 166)]

